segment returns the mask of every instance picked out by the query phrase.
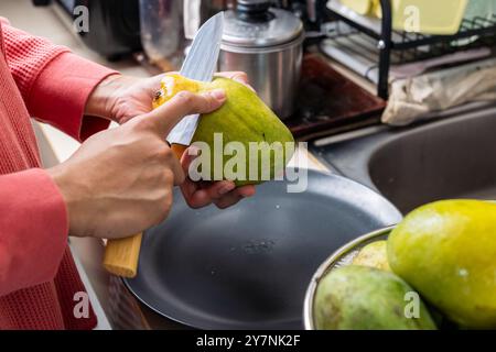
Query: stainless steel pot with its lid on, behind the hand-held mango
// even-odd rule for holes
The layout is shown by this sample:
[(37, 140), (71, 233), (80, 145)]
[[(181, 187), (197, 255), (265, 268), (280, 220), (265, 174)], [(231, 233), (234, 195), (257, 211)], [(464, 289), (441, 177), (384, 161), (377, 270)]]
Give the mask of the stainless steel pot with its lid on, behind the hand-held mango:
[(303, 23), (270, 1), (239, 0), (225, 13), (219, 69), (244, 70), (260, 98), (284, 119), (293, 112), (300, 79)]

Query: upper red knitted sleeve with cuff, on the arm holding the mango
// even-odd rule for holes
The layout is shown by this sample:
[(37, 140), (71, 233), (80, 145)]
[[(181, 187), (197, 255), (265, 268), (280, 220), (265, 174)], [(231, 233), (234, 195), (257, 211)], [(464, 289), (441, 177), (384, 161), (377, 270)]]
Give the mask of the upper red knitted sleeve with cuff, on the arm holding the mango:
[(95, 87), (115, 70), (1, 20), (7, 63), (31, 116), (82, 141), (109, 124), (84, 117)]

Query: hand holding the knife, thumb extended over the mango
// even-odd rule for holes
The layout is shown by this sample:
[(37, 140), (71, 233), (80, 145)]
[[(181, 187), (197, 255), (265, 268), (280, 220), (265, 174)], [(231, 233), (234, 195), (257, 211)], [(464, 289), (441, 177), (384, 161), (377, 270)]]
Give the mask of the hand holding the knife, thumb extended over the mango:
[(160, 108), (86, 140), (48, 174), (67, 205), (69, 233), (116, 239), (163, 221), (184, 182), (165, 135), (184, 117), (222, 106), (225, 94), (177, 94)]

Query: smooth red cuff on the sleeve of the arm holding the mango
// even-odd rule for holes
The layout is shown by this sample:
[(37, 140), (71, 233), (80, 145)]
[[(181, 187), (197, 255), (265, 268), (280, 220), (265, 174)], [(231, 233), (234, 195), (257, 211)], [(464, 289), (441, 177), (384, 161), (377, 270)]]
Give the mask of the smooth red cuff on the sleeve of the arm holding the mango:
[(72, 53), (52, 59), (34, 82), (29, 106), (31, 113), (78, 141), (108, 128), (110, 121), (85, 117), (86, 101), (95, 87), (117, 72)]

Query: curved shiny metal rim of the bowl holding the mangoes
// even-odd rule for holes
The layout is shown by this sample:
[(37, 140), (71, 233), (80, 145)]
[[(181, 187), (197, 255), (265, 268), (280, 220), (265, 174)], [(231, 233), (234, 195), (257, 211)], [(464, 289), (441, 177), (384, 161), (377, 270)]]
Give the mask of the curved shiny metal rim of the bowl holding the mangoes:
[(353, 258), (367, 244), (387, 240), (392, 229), (395, 229), (395, 227), (377, 230), (357, 238), (356, 240), (343, 245), (324, 263), (322, 263), (321, 266), (319, 266), (305, 294), (305, 301), (303, 306), (303, 322), (305, 330), (315, 330), (313, 321), (313, 301), (320, 280), (332, 270), (352, 264)]

